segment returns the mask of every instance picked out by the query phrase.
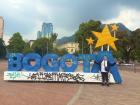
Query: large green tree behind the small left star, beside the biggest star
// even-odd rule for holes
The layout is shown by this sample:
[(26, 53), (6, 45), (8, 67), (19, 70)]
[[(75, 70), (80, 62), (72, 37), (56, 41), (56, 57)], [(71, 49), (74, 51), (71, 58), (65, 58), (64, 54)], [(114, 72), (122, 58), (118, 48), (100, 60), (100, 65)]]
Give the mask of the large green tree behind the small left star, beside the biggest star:
[[(89, 53), (89, 45), (86, 39), (92, 37), (96, 40), (96, 37), (91, 31), (101, 31), (101, 22), (90, 20), (80, 24), (78, 31), (75, 33), (75, 41), (79, 43), (81, 53)], [(95, 44), (92, 46), (94, 48)]]

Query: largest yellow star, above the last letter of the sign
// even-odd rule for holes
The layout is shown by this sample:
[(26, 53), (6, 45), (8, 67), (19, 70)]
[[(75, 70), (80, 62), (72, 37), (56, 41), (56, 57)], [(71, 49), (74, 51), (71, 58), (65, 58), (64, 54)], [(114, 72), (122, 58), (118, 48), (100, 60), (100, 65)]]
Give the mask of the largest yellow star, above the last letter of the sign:
[(92, 31), (92, 33), (98, 38), (98, 41), (95, 47), (100, 47), (107, 44), (110, 47), (112, 47), (112, 49), (114, 49), (115, 51), (117, 50), (114, 42), (118, 39), (111, 36), (111, 33), (107, 25), (104, 27), (101, 33), (95, 32), (95, 31)]

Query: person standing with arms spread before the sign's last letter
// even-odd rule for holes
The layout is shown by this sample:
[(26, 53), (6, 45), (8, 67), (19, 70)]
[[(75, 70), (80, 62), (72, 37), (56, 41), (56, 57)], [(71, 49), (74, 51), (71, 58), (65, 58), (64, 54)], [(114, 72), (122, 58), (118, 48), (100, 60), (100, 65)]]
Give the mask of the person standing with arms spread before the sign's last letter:
[(109, 62), (107, 56), (104, 56), (101, 62), (102, 85), (109, 86), (108, 73), (109, 73)]

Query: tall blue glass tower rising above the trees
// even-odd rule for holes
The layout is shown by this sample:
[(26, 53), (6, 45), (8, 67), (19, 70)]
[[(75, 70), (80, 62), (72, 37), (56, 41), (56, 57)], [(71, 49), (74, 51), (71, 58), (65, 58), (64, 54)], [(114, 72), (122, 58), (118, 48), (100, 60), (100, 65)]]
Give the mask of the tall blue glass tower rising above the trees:
[(43, 23), (42, 24), (42, 37), (50, 37), (53, 33), (53, 25), (52, 23)]

